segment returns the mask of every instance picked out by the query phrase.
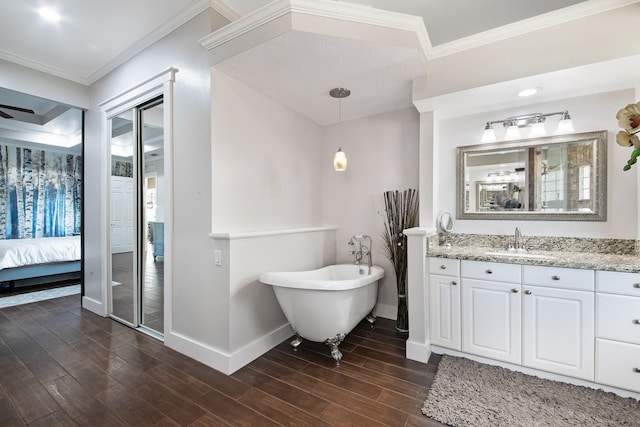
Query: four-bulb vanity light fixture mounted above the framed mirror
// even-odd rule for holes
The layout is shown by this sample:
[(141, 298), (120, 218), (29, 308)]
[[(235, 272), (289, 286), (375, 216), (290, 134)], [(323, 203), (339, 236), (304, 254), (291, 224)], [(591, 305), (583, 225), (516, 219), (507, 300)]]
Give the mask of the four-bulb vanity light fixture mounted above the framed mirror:
[(493, 125), (496, 123), (502, 123), (507, 128), (505, 139), (518, 139), (521, 137), (520, 128), (531, 126), (529, 131), (529, 137), (545, 136), (547, 131), (544, 126), (544, 122), (547, 117), (550, 116), (562, 116), (558, 122), (557, 134), (573, 133), (573, 124), (571, 122), (571, 116), (568, 111), (557, 111), (555, 113), (533, 113), (524, 114), (521, 116), (508, 117), (502, 120), (492, 120), (487, 122), (484, 127), (481, 142), (493, 142), (496, 140), (495, 133), (493, 131)]

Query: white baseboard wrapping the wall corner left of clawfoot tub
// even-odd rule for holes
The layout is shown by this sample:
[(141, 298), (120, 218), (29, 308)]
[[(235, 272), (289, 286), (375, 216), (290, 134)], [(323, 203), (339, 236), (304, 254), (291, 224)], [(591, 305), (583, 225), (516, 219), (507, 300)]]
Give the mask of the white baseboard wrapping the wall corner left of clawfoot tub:
[(291, 335), (293, 335), (293, 331), (289, 324), (286, 324), (231, 354), (176, 332), (165, 334), (164, 343), (179, 353), (224, 374), (231, 375)]

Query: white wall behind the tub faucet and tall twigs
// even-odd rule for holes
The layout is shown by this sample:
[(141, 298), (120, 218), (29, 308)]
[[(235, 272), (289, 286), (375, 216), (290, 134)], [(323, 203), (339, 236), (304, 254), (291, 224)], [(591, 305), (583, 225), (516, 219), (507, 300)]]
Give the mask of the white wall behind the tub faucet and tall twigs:
[[(326, 224), (338, 227), (338, 262), (353, 262), (347, 253), (351, 236), (371, 236), (373, 262), (385, 270), (377, 314), (387, 318), (395, 318), (397, 291), (393, 266), (382, 249), (383, 193), (418, 188), (418, 132), (419, 116), (414, 109), (344, 122), (327, 128), (318, 159), (323, 179), (322, 217)], [(333, 170), (339, 145), (348, 160), (344, 172)]]

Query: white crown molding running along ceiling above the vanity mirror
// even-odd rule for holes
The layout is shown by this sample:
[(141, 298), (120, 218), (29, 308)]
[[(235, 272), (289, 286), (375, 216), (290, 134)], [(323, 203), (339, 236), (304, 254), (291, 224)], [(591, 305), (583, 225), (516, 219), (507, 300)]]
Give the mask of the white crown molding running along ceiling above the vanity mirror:
[[(638, 3), (640, 0), (588, 0), (427, 49), (429, 60)], [(430, 46), (430, 45), (429, 45)]]

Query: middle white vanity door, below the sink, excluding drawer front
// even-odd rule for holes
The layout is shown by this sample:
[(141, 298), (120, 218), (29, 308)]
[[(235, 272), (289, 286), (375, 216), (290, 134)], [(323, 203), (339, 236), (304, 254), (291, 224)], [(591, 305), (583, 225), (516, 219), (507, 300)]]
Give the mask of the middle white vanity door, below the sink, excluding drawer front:
[(520, 284), (461, 281), (462, 351), (520, 364)]

